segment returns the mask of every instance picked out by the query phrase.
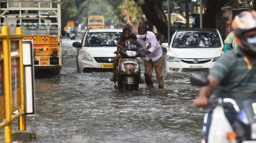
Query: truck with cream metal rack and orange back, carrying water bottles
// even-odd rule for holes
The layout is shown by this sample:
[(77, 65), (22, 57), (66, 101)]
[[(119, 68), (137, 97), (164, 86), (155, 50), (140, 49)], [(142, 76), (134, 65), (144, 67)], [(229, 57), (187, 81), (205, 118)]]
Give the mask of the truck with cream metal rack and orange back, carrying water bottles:
[[(35, 73), (60, 74), (62, 67), (61, 41), (65, 31), (61, 31), (60, 0), (0, 1), (0, 25), (28, 28), (34, 23), (42, 23), (48, 33), (52, 25), (58, 27), (58, 35), (23, 35), (24, 40), (33, 40)], [(51, 13), (51, 14), (47, 14)], [(0, 27), (1, 31), (1, 27)], [(25, 52), (25, 51), (24, 51)]]

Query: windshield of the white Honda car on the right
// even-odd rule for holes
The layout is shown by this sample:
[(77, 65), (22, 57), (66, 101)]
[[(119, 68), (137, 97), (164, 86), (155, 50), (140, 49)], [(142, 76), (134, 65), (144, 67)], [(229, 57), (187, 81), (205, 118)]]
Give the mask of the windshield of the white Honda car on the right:
[(217, 32), (181, 32), (177, 33), (172, 48), (217, 48), (221, 47)]

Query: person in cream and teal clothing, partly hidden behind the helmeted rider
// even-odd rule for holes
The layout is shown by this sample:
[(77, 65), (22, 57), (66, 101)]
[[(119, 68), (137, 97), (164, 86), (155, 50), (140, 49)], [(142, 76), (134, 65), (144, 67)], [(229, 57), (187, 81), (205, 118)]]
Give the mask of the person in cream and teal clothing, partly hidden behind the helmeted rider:
[(225, 46), (223, 48), (223, 52), (226, 53), (227, 51), (235, 48), (237, 46), (236, 39), (234, 37), (234, 31), (230, 32), (227, 38), (224, 40)]

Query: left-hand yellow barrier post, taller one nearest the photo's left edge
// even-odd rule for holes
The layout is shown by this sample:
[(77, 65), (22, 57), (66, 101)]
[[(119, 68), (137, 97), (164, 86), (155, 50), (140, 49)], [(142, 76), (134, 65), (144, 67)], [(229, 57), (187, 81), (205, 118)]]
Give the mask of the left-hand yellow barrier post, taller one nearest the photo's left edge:
[(5, 120), (4, 122), (10, 122), (5, 126), (5, 142), (12, 142), (12, 75), (11, 73), (11, 58), (10, 58), (10, 39), (9, 39), (9, 27), (2, 26), (2, 34), (6, 35), (6, 39), (3, 39), (3, 51), (4, 51), (4, 97), (5, 97)]

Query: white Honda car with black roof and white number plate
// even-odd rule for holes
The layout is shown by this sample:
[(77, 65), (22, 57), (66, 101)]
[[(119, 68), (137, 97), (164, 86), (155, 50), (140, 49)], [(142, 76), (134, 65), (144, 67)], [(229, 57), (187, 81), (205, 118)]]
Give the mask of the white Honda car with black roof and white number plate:
[(177, 30), (168, 43), (165, 68), (171, 72), (209, 72), (224, 47), (217, 29), (193, 28)]

